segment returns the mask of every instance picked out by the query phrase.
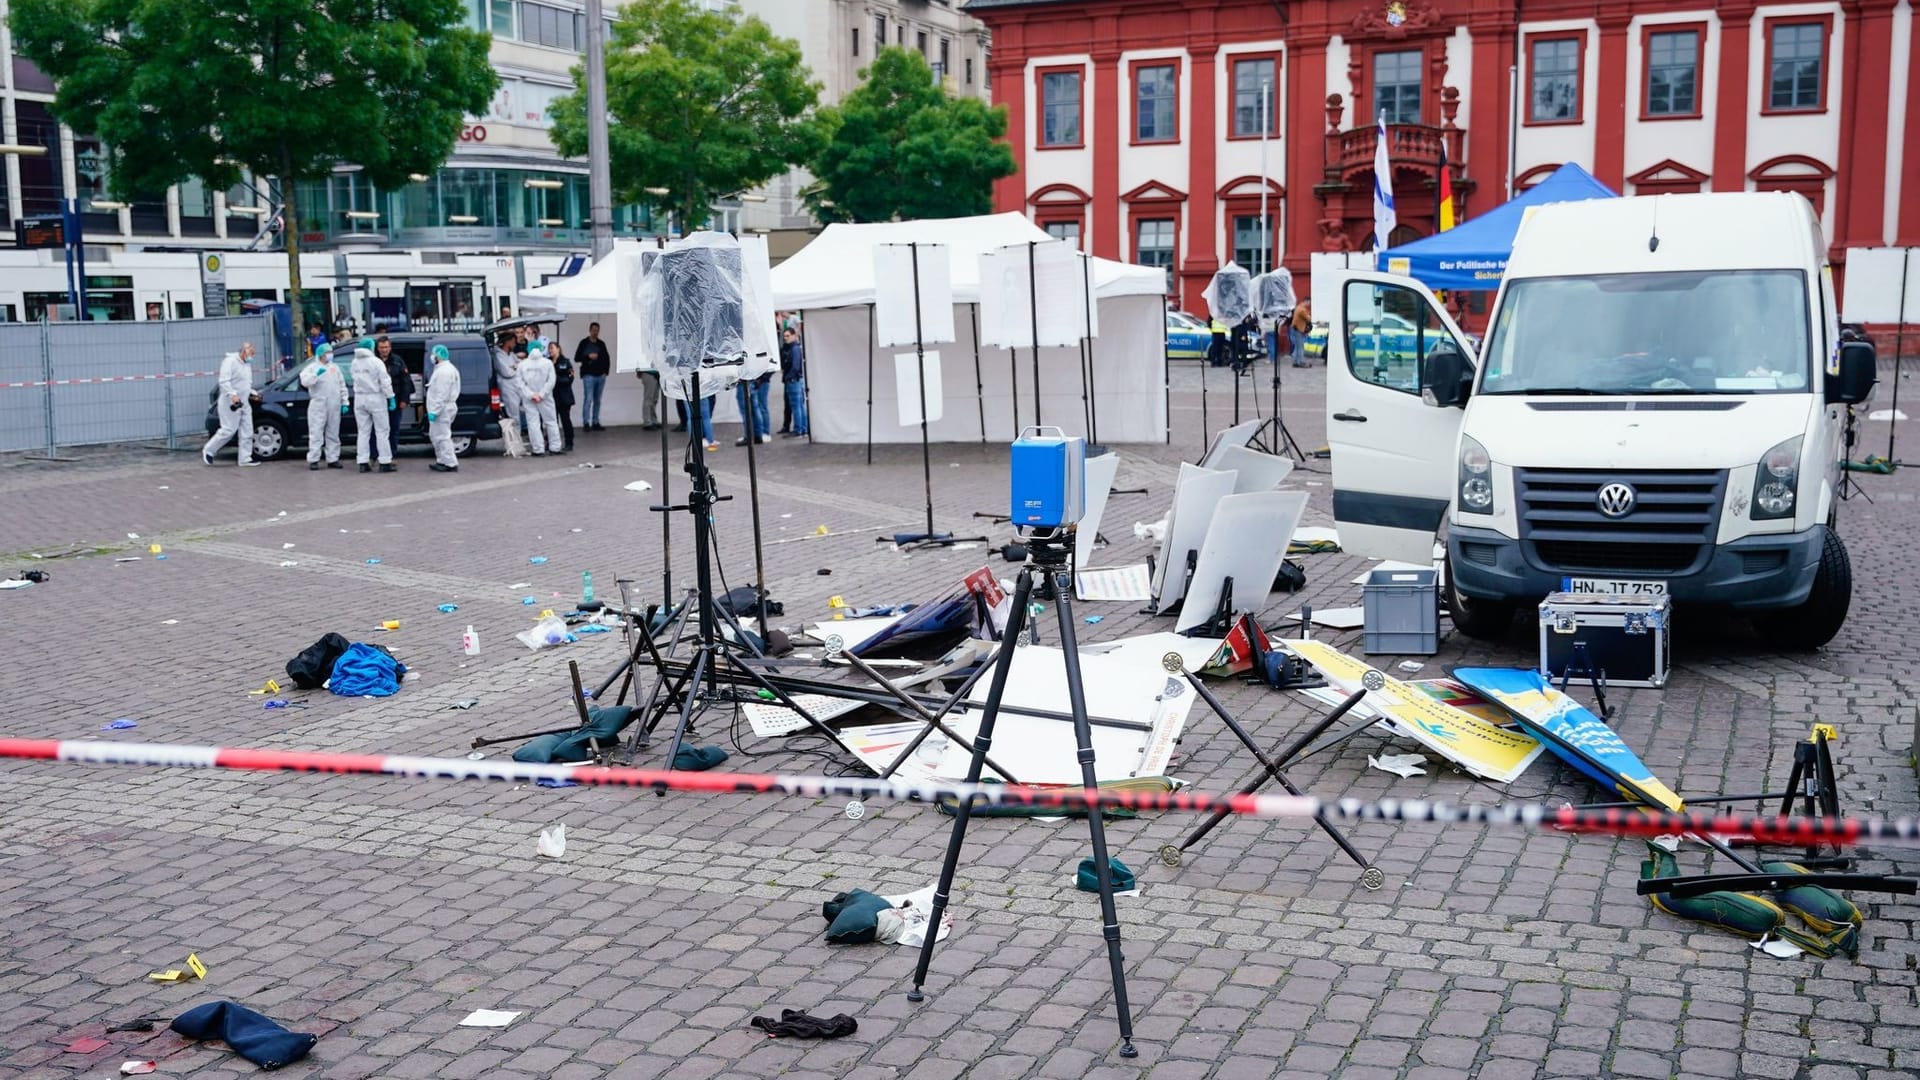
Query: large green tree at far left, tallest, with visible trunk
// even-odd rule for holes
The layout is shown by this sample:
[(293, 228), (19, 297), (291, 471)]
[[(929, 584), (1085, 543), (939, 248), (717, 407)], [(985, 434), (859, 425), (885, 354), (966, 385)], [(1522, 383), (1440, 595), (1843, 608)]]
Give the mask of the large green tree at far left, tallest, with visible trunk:
[(54, 113), (106, 144), (115, 198), (278, 177), (300, 319), (298, 181), (438, 169), (499, 88), (463, 21), (461, 0), (13, 0), (10, 25), (58, 81)]

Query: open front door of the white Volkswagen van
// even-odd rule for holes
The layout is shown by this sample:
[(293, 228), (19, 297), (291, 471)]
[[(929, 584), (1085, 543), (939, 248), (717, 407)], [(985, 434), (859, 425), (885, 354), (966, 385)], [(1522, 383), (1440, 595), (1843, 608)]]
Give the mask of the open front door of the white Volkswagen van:
[(1423, 361), (1459, 350), (1471, 375), (1475, 350), (1409, 277), (1344, 271), (1338, 294), (1327, 321), (1327, 444), (1340, 550), (1427, 565), (1459, 480), (1465, 394), (1453, 390), (1455, 405), (1423, 400), (1434, 390), (1421, 384)]

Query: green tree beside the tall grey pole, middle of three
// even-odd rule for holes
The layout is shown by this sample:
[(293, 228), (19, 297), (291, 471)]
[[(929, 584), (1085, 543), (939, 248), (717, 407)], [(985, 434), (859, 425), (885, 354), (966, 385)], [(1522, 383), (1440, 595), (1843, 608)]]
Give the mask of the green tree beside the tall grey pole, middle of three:
[[(568, 158), (588, 152), (584, 67), (574, 67), (574, 86), (549, 108), (553, 144)], [(808, 111), (818, 100), (801, 46), (760, 19), (701, 12), (689, 0), (636, 0), (620, 10), (607, 48), (614, 196), (701, 225), (714, 200), (812, 156), (820, 131)]]

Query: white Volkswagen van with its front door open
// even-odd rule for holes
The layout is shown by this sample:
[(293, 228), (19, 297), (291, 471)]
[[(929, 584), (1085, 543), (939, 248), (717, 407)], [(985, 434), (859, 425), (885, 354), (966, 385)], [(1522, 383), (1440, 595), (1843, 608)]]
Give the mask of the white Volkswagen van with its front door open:
[(1874, 350), (1839, 342), (1799, 194), (1530, 211), (1476, 363), (1407, 277), (1348, 271), (1325, 315), (1340, 546), (1425, 565), (1444, 519), (1463, 632), (1563, 588), (1751, 611), (1788, 648), (1839, 632), (1841, 430)]

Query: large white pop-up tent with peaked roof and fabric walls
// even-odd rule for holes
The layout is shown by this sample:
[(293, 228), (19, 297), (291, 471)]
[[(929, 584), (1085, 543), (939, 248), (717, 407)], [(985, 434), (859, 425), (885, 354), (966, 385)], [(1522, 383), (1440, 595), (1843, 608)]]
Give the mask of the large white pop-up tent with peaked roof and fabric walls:
[[(874, 248), (945, 244), (954, 298), (954, 342), (941, 350), (945, 415), (929, 423), (933, 442), (1012, 440), (1033, 423), (1031, 350), (979, 344), (981, 256), (1050, 236), (1020, 213), (828, 225), (799, 254), (774, 267), (774, 307), (803, 313), (806, 327), (806, 419), (816, 442), (918, 442), (918, 423), (897, 423), (893, 356), (874, 336)], [(1098, 404), (1102, 442), (1160, 442), (1167, 432), (1165, 271), (1094, 258), (1098, 336), (1089, 342), (1092, 379), (1079, 348), (1041, 348), (1041, 423), (1087, 434), (1083, 388)], [(1018, 407), (1018, 411), (1016, 411)]]

